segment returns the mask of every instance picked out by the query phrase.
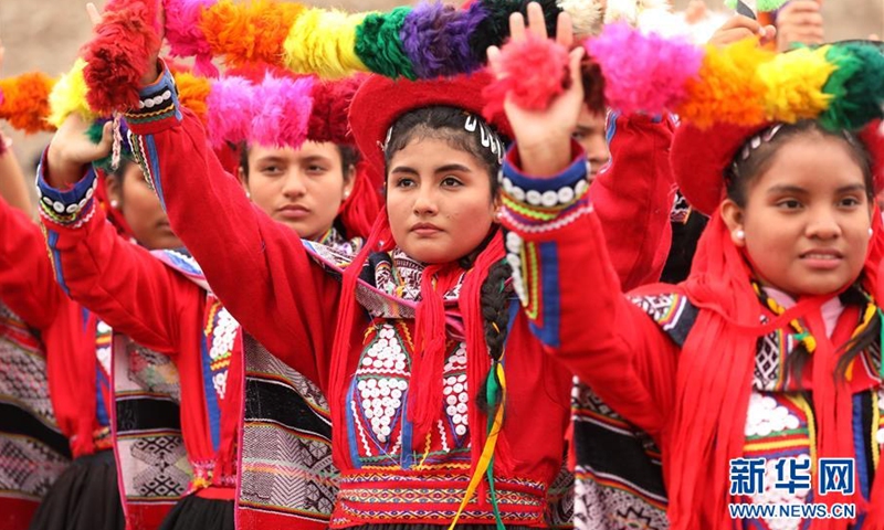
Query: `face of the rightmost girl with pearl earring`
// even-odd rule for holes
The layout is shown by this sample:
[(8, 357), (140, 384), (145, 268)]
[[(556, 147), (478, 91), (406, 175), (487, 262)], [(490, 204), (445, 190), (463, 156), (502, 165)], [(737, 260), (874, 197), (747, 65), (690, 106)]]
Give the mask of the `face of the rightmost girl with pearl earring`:
[(829, 136), (794, 137), (749, 182), (745, 209), (722, 204), (761, 284), (798, 297), (836, 293), (859, 277), (873, 206), (849, 149)]

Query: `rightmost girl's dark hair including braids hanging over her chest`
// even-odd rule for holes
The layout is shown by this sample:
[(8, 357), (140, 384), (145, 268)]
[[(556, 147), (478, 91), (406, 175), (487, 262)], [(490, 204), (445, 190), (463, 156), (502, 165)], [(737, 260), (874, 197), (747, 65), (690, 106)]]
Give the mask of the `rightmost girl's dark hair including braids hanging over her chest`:
[[(860, 166), (865, 181), (866, 197), (870, 201), (874, 200), (874, 181), (872, 176), (872, 160), (861, 141), (851, 132), (832, 132), (823, 129), (818, 121), (803, 120), (793, 125), (781, 125), (774, 134), (772, 138), (766, 139), (772, 129), (767, 129), (760, 135), (746, 142), (738, 151), (726, 177), (727, 197), (738, 206), (746, 208), (749, 184), (764, 173), (772, 163), (778, 149), (788, 141), (803, 136), (817, 136), (819, 138), (835, 138), (841, 140), (846, 147), (851, 159)], [(760, 145), (753, 147), (753, 140), (761, 139)], [(748, 156), (744, 156), (747, 152)], [(845, 304), (865, 304), (862, 294), (857, 294), (857, 287), (852, 287), (841, 295)], [(859, 296), (859, 298), (857, 298)], [(836, 377), (845, 377), (846, 369), (851, 361), (873, 344), (880, 338), (881, 320), (874, 318), (862, 333), (852, 338), (839, 347), (843, 351), (838, 361)], [(764, 338), (759, 340), (765, 340)], [(803, 342), (799, 342), (789, 357), (786, 359), (786, 373), (794, 380), (800, 381), (803, 369), (810, 360), (810, 352)]]

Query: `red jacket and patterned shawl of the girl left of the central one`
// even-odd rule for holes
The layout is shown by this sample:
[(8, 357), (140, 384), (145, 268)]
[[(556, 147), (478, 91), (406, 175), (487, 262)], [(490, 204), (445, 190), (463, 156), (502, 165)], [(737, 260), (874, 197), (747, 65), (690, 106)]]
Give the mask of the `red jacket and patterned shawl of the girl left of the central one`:
[[(41, 193), (53, 198), (53, 203), (78, 205), (83, 199), (77, 197), (86, 198), (88, 191), (83, 190), (91, 190), (94, 179), (88, 172), (74, 187), (81, 194), (73, 198), (41, 179)], [(315, 436), (285, 436), (287, 445), (275, 447), (282, 453), (269, 454), (266, 438), (256, 436), (282, 432), (262, 428), (267, 425), (266, 406), (281, 395), (273, 393), (278, 386), (269, 395), (262, 384), (267, 373), (261, 370), (269, 362), (262, 357), (263, 349), (251, 350), (254, 357), (249, 362), (254, 371), (249, 384), (253, 394), (243, 409), (241, 328), (207, 290), (193, 258), (182, 251), (157, 251), (151, 256), (117, 236), (104, 222), (104, 212), (87, 203), (76, 219), (62, 223), (44, 216), (44, 223), (62, 280), (72, 295), (115, 322), (115, 329), (128, 330), (138, 340), (117, 337), (114, 343), (117, 458), (129, 526), (155, 528), (181, 496), (202, 495), (202, 489), (214, 487), (227, 492), (212, 494), (213, 498), (241, 499), (240, 517), (248, 524), (280, 523), (278, 517), (283, 517), (294, 518), (302, 528), (325, 528), (336, 475), (328, 430)], [(350, 255), (361, 244), (359, 240), (344, 241), (335, 230), (323, 242)], [(112, 272), (95, 263), (113, 264)], [(96, 283), (103, 285), (103, 292), (94, 287)], [(291, 370), (282, 372), (283, 384), (293, 390), (288, 403), (309, 400), (315, 410), (304, 411), (312, 416), (287, 420), (296, 431), (323, 422), (324, 416), (327, 422), (328, 414), (320, 392), (309, 384), (295, 385), (298, 379), (303, 380)], [(285, 402), (273, 406), (291, 413)], [(243, 463), (249, 475), (236, 495), (236, 425), (243, 410), (248, 426), (242, 438)], [(283, 496), (265, 495), (263, 479), (272, 475), (262, 466), (274, 455), (277, 470), (295, 470), (294, 478), (280, 478), (281, 485), (273, 488), (286, 488)], [(297, 459), (290, 462), (292, 455)]]

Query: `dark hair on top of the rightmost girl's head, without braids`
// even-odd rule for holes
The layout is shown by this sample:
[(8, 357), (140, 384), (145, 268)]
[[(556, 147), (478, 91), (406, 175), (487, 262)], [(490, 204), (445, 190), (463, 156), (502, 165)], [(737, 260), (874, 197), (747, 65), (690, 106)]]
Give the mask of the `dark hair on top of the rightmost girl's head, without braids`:
[[(725, 181), (727, 183), (727, 198), (734, 201), (738, 206), (746, 208), (748, 197), (749, 183), (753, 182), (758, 176), (764, 173), (774, 163), (774, 157), (779, 148), (788, 141), (802, 136), (817, 136), (819, 138), (835, 138), (844, 142), (849, 148), (850, 157), (860, 166), (863, 171), (863, 180), (865, 181), (866, 195), (869, 200), (874, 199), (874, 182), (872, 178), (872, 159), (869, 151), (863, 147), (862, 142), (856, 137), (849, 132), (832, 132), (823, 129), (818, 121), (803, 120), (793, 125), (781, 125), (779, 130), (776, 131), (772, 138), (767, 141), (761, 141), (758, 147), (753, 148), (751, 142), (757, 138), (764, 138), (772, 129), (767, 129), (760, 135), (748, 140), (738, 151), (726, 171)], [(749, 152), (748, 157), (744, 158), (744, 152)]]

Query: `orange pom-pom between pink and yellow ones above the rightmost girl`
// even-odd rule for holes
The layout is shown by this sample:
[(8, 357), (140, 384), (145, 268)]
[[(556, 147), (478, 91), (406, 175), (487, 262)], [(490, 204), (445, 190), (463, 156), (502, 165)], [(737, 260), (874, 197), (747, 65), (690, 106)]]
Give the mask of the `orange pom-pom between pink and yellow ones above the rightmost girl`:
[(717, 121), (747, 126), (762, 123), (766, 86), (756, 71), (774, 57), (774, 52), (762, 50), (754, 39), (724, 49), (707, 45), (699, 75), (687, 83), (687, 98), (676, 113), (697, 127)]

